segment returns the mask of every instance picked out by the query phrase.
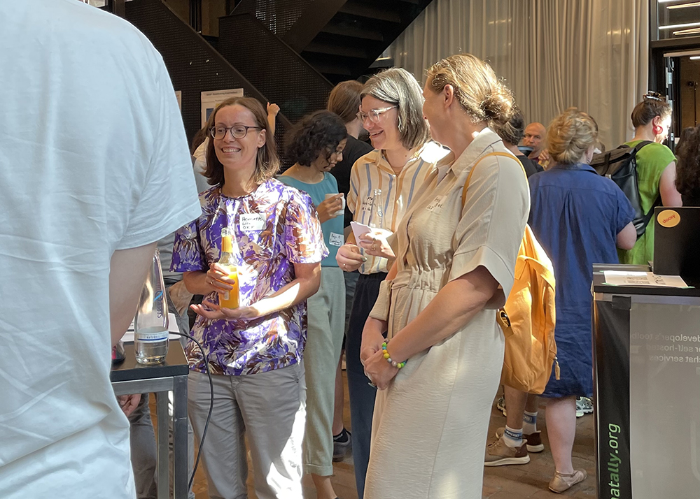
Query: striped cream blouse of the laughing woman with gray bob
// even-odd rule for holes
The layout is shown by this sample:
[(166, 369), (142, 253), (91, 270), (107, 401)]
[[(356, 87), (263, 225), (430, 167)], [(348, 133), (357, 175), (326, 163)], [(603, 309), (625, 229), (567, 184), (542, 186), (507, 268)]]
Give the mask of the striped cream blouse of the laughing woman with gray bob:
[[(381, 229), (394, 232), (408, 205), (414, 198), (428, 174), (441, 159), (449, 159), (449, 150), (438, 143), (428, 142), (406, 162), (400, 173), (393, 168), (379, 150), (368, 152), (360, 157), (350, 173), (350, 191), (347, 205), (353, 213), (353, 220), (362, 224), (370, 221), (372, 196), (374, 189), (381, 189), (381, 201), (384, 203), (384, 226)], [(374, 274), (388, 272), (384, 258), (367, 255), (367, 261), (360, 266), (360, 273)]]

